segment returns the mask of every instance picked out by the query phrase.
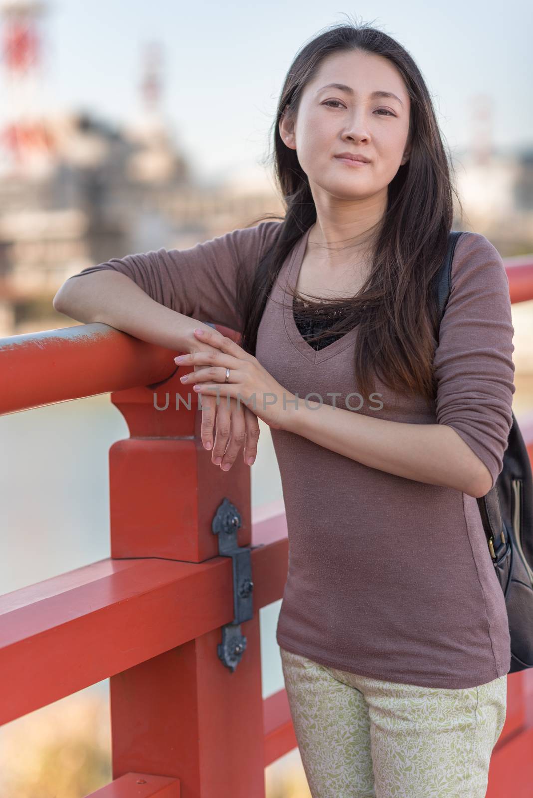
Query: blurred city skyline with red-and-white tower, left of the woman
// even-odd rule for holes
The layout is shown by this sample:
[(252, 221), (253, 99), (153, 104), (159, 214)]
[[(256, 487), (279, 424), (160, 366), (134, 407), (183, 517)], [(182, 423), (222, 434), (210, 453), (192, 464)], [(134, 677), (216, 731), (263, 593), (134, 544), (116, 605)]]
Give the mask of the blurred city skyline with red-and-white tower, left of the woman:
[[(199, 184), (161, 108), (161, 52), (144, 52), (138, 119), (120, 129), (94, 113), (52, 115), (41, 102), (42, 0), (0, 0), (0, 336), (64, 322), (52, 300), (94, 263), (191, 247), (279, 209), (239, 180)], [(264, 180), (263, 180), (264, 184)]]

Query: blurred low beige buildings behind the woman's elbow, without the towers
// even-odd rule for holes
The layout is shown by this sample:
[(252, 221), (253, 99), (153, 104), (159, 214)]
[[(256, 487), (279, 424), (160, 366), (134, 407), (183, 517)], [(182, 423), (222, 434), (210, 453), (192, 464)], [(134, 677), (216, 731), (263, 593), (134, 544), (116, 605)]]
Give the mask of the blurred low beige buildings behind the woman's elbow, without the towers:
[(2, 336), (46, 306), (51, 317), (58, 288), (86, 266), (191, 247), (278, 207), (263, 188), (197, 185), (156, 120), (122, 131), (89, 114), (45, 124), (52, 168), (0, 177)]

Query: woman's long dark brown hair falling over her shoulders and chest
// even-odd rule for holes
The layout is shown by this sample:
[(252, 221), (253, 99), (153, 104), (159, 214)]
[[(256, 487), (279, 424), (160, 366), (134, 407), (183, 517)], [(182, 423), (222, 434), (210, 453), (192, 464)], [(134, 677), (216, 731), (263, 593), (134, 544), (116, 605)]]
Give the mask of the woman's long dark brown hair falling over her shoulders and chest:
[[(448, 247), (453, 223), (451, 158), (447, 155), (432, 100), (420, 70), (407, 50), (373, 27), (348, 22), (326, 29), (302, 47), (290, 65), (273, 124), (274, 173), (286, 207), (285, 216), (263, 215), (248, 227), (267, 219), (280, 222), (274, 246), (260, 259), (252, 281), (239, 281), (241, 346), (255, 354), (257, 331), (267, 298), (287, 255), (316, 222), (317, 211), (309, 180), (294, 149), (279, 133), (282, 113), (296, 115), (306, 85), (322, 61), (332, 53), (362, 50), (375, 53), (396, 66), (410, 97), (410, 156), (389, 183), (385, 214), (377, 229), (369, 277), (353, 298), (314, 302), (317, 307), (344, 309), (318, 340), (358, 326), (354, 347), (357, 390), (369, 395), (379, 375), (385, 385), (401, 393), (435, 397), (433, 358), (439, 316), (435, 276)], [(300, 294), (289, 293), (301, 298)], [(363, 312), (364, 311), (364, 312)], [(306, 310), (300, 311), (302, 315)]]

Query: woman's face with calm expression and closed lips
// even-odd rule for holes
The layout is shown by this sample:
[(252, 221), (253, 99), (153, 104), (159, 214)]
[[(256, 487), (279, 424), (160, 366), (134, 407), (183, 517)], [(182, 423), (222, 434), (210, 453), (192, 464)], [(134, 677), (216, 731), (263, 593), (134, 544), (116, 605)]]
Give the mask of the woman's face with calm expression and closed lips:
[[(344, 84), (340, 89), (326, 84)], [(389, 92), (383, 97), (375, 92)], [(409, 94), (386, 58), (360, 51), (334, 53), (304, 89), (297, 119), (282, 117), (282, 139), (294, 148), (314, 195), (363, 199), (386, 190), (409, 157)], [(338, 153), (369, 158), (352, 166)]]

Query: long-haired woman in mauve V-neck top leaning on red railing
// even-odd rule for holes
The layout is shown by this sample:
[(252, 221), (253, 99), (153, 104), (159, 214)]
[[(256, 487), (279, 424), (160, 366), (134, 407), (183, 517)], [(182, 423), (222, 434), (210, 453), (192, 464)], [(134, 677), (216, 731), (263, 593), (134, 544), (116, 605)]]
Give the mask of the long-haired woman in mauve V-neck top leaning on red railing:
[(310, 41), (274, 132), (283, 219), (90, 267), (75, 277), (113, 276), (70, 279), (54, 306), (188, 353), (213, 462), (244, 432), (253, 461), (270, 425), (290, 539), (277, 640), (314, 798), (478, 798), (510, 667), (476, 504), (511, 426), (503, 263), (460, 237), (439, 328), (448, 159), (420, 70), (381, 31)]

